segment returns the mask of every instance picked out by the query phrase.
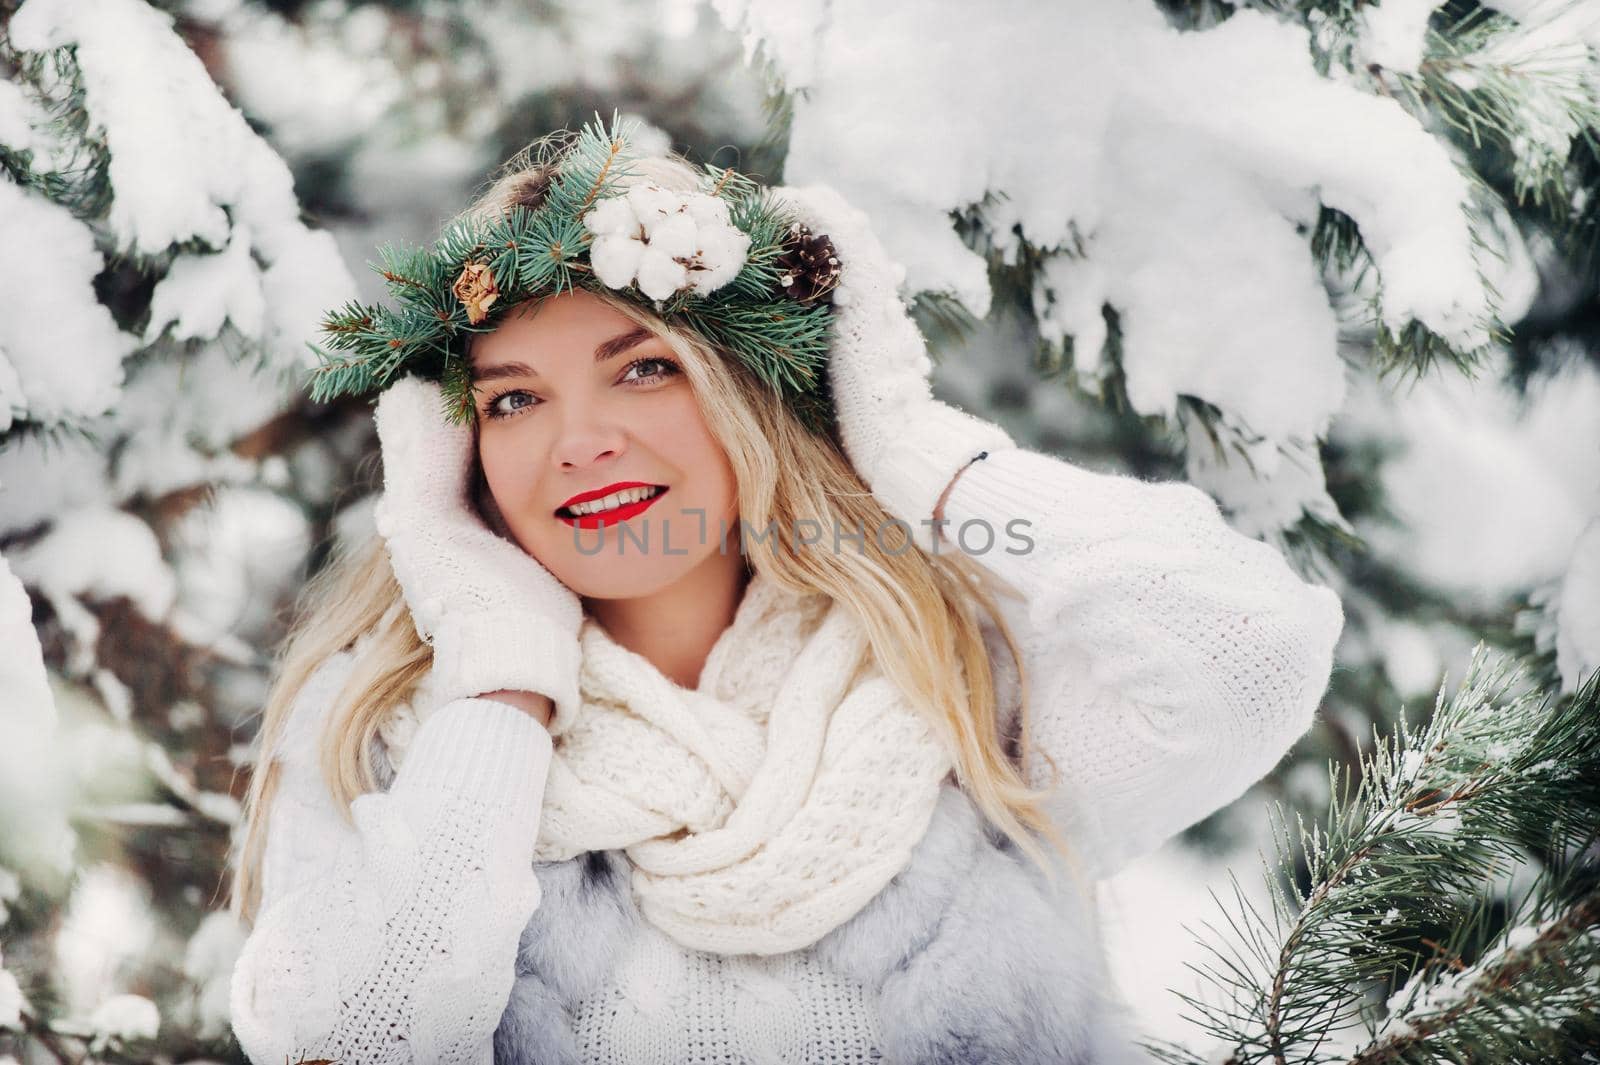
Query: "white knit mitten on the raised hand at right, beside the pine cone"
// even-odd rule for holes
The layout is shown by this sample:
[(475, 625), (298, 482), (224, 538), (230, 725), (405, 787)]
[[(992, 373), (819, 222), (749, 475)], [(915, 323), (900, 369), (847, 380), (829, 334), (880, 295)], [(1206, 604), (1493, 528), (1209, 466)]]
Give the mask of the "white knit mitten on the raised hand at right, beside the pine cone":
[(827, 376), (845, 454), (883, 509), (931, 550), (933, 528), (923, 523), (950, 478), (982, 451), (1014, 443), (994, 422), (933, 398), (928, 344), (899, 296), (906, 267), (883, 249), (866, 213), (830, 185), (771, 192), (838, 251)]

